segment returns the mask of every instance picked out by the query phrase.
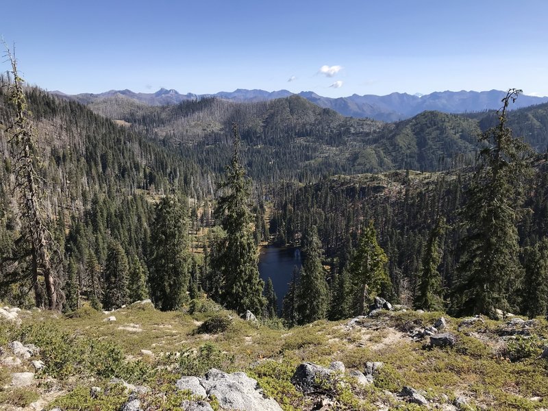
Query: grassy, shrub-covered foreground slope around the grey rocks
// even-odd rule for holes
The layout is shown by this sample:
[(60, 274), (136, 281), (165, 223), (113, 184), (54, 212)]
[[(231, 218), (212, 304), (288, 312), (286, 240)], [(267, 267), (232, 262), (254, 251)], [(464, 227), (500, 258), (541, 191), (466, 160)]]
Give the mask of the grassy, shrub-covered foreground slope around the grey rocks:
[[(461, 409), (548, 409), (548, 360), (540, 358), (548, 337), (544, 319), (524, 331), (509, 327), (508, 319), (460, 325), (462, 319), (445, 316), (444, 332), (455, 334), (457, 343), (444, 349), (410, 337), (441, 315), (383, 311), (353, 326), (317, 321), (284, 329), (275, 322), (243, 321), (207, 300), (192, 301), (180, 312), (160, 312), (150, 303), (109, 314), (88, 306), (70, 316), (21, 312), (20, 323), (0, 321), (0, 357), (12, 356), (8, 343), (14, 340), (39, 352), (20, 365), (0, 366), (0, 410), (119, 410), (127, 390), (112, 377), (147, 386), (144, 409), (177, 410), (190, 393), (177, 391), (175, 381), (212, 367), (245, 371), (284, 410), (308, 410), (316, 399), (291, 384), (292, 373), (303, 361), (327, 366), (334, 360), (360, 371), (368, 361), (384, 367), (368, 386), (349, 376), (325, 386), (333, 409), (447, 409), (457, 397), (468, 404)], [(116, 321), (104, 321), (109, 316)], [(34, 372), (30, 360), (45, 364), (36, 384), (12, 387), (11, 373)], [(101, 390), (94, 394), (92, 386)], [(431, 403), (406, 403), (394, 395), (402, 386), (421, 390)], [(218, 408), (214, 399), (210, 404)]]

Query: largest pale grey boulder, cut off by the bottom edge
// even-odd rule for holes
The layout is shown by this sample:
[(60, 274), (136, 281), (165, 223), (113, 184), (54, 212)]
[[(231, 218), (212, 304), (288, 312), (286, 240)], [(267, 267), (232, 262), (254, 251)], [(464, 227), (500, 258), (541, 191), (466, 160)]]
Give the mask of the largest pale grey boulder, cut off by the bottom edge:
[(245, 373), (224, 373), (210, 369), (201, 379), (208, 396), (216, 397), (219, 406), (227, 410), (240, 411), (282, 411), (278, 403), (265, 397), (257, 381)]

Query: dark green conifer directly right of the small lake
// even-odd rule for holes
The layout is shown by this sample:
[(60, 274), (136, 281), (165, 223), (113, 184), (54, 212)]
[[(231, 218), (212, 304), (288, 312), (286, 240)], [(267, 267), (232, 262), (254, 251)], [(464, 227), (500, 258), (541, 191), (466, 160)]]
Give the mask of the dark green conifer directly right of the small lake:
[(323, 250), (315, 225), (305, 233), (301, 252), (304, 261), (297, 291), (297, 312), (299, 323), (306, 324), (324, 319), (329, 306), (329, 289), (321, 263)]

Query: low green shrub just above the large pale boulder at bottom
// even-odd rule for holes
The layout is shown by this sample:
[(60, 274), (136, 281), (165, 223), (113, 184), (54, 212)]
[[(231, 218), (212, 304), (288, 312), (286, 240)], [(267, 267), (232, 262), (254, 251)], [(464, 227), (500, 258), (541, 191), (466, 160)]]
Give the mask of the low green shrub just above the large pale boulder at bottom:
[(182, 375), (203, 375), (212, 368), (227, 370), (234, 363), (234, 356), (223, 353), (213, 343), (199, 349), (186, 349), (179, 357), (177, 368)]

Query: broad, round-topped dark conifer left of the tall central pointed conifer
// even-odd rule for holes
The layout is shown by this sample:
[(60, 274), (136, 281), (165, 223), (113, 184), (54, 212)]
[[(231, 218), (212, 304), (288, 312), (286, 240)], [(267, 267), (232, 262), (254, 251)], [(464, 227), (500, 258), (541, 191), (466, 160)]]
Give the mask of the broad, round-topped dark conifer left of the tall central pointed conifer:
[(149, 284), (160, 310), (176, 310), (188, 290), (187, 210), (176, 197), (164, 197), (155, 208), (151, 230)]

